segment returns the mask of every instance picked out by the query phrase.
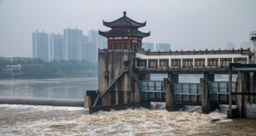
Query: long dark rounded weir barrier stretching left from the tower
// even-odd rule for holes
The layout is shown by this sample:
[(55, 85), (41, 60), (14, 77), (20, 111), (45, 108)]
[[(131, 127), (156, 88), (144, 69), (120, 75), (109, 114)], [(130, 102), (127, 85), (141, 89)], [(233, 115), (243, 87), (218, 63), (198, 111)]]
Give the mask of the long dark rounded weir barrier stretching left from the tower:
[(0, 104), (8, 104), (8, 105), (53, 105), (53, 106), (84, 107), (84, 100), (83, 99), (0, 98)]

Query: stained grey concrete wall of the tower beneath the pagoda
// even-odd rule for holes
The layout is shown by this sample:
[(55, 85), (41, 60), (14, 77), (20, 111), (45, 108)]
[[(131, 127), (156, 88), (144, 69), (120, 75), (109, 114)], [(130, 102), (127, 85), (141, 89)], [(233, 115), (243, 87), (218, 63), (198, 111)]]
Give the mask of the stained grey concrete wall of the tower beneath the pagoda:
[[(108, 83), (119, 76), (120, 71), (128, 63), (128, 71), (125, 71), (122, 77), (109, 88), (108, 92), (100, 99), (101, 105), (119, 105), (134, 102), (134, 86), (132, 88), (131, 77), (135, 77), (133, 71), (133, 59), (135, 51), (133, 50), (100, 50), (98, 54), (98, 89), (99, 93), (108, 88)], [(132, 82), (133, 83), (133, 82)]]

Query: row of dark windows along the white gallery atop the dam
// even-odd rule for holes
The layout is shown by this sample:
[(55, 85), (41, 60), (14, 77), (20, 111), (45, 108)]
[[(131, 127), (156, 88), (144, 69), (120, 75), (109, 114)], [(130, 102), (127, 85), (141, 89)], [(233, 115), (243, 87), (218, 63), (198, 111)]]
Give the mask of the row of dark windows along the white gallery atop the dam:
[[(190, 67), (193, 65), (193, 59), (183, 59), (183, 66)], [(229, 66), (232, 63), (232, 59), (220, 59), (220, 66)], [(234, 59), (234, 63), (241, 63), (247, 64), (246, 58), (241, 59)], [(148, 59), (148, 66), (156, 67), (158, 66), (157, 59)], [(169, 60), (168, 59), (160, 59), (160, 66), (168, 66)], [(172, 66), (181, 66), (181, 59), (172, 59), (171, 61)], [(204, 66), (205, 59), (195, 59), (195, 66)], [(218, 59), (208, 59), (207, 61), (208, 66), (218, 66)], [(147, 59), (138, 59), (137, 66), (147, 66)]]

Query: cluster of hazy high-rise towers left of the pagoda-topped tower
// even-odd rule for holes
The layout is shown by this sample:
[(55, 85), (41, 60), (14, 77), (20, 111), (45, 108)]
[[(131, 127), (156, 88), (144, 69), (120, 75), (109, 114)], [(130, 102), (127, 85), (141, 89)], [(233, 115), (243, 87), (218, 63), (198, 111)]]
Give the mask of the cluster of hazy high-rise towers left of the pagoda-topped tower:
[(96, 63), (98, 48), (107, 48), (107, 40), (97, 31), (90, 30), (88, 36), (85, 36), (82, 30), (70, 27), (63, 29), (63, 35), (38, 32), (38, 30), (32, 32), (32, 43), (33, 58), (45, 61), (87, 59)]

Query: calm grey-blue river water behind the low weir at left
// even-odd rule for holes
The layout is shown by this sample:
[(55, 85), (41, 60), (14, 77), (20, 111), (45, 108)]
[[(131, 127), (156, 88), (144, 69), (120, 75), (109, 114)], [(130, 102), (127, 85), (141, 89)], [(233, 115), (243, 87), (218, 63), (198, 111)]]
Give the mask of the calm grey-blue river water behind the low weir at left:
[(85, 90), (97, 87), (97, 77), (0, 79), (0, 97), (84, 99)]

